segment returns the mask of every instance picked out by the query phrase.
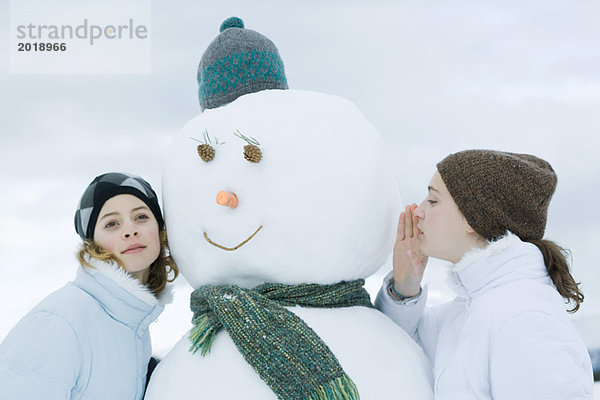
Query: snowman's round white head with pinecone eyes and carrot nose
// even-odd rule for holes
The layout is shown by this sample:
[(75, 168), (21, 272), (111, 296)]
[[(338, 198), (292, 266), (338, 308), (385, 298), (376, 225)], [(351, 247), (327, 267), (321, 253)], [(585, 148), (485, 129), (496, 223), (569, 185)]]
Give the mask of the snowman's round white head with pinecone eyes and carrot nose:
[(366, 278), (391, 252), (400, 207), (381, 137), (358, 109), (296, 90), (192, 119), (162, 187), (171, 252), (195, 288)]

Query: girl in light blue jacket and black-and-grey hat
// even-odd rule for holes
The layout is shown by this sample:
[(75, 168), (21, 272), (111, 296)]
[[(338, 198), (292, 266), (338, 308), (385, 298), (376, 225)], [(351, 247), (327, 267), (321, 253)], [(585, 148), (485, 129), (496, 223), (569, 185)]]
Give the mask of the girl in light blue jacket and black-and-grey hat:
[(144, 396), (148, 327), (178, 274), (156, 193), (137, 176), (100, 175), (81, 197), (75, 230), (83, 239), (75, 280), (42, 300), (0, 344), (2, 399)]

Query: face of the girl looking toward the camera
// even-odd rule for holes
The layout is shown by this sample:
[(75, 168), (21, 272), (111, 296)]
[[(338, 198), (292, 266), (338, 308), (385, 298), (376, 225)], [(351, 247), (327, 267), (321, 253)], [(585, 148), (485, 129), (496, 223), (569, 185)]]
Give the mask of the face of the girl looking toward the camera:
[(158, 222), (139, 198), (120, 194), (102, 206), (94, 242), (116, 256), (127, 272), (145, 283), (150, 265), (160, 254)]

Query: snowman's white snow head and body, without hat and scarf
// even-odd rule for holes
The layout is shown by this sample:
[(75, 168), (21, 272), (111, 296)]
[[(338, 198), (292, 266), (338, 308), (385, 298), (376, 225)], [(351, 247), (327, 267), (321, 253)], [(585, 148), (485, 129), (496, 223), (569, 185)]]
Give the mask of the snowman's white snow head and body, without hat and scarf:
[[(215, 150), (208, 162), (197, 152), (206, 134)], [(242, 135), (260, 143), (260, 162), (244, 158)], [(170, 248), (194, 288), (364, 279), (393, 245), (401, 204), (383, 143), (336, 96), (269, 90), (207, 110), (175, 139), (163, 176)], [(221, 191), (238, 206), (217, 204)], [(289, 309), (327, 344), (361, 399), (433, 398), (421, 349), (377, 310)], [(276, 398), (226, 331), (206, 356), (189, 351), (187, 336), (155, 370), (146, 399)]]

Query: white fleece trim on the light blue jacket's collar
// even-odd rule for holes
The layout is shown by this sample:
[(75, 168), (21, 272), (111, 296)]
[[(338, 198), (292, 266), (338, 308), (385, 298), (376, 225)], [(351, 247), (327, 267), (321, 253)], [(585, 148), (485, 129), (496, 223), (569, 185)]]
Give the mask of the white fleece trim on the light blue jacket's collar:
[(90, 274), (100, 274), (109, 278), (119, 287), (125, 289), (145, 303), (150, 305), (158, 304), (164, 307), (165, 304), (170, 304), (173, 302), (172, 285), (167, 285), (158, 295), (158, 298), (156, 298), (147, 286), (142, 285), (140, 281), (131, 276), (114, 261), (100, 261), (87, 255), (85, 256), (85, 259), (93, 267), (87, 269)]

